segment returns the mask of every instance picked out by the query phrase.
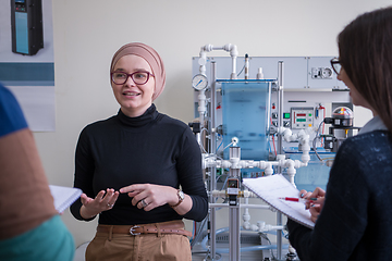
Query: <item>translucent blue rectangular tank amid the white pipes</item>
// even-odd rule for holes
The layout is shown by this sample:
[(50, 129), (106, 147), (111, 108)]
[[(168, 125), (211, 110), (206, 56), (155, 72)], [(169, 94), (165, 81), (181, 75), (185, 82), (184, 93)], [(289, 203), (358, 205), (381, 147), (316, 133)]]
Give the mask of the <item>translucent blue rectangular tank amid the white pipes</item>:
[[(270, 79), (218, 80), (222, 86), (223, 145), (237, 137), (242, 160), (268, 160)], [(224, 148), (223, 147), (223, 148)], [(224, 150), (229, 159), (229, 149)]]

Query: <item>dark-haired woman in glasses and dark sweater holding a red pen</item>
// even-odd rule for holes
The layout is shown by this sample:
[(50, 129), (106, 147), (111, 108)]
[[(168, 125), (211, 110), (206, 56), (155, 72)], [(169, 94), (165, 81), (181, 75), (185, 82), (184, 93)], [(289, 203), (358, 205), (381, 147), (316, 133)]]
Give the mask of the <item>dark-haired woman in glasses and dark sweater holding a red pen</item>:
[(301, 261), (390, 260), (392, 254), (392, 8), (359, 15), (331, 61), (355, 105), (373, 117), (339, 148), (327, 190), (310, 208), (315, 228), (289, 220)]

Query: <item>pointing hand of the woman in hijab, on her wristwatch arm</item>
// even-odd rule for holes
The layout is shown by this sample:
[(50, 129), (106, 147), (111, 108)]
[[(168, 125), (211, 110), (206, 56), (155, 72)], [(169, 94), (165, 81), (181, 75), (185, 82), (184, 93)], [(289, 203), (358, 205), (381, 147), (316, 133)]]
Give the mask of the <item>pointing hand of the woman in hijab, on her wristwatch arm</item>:
[(127, 192), (128, 197), (133, 198), (132, 204), (145, 211), (150, 211), (166, 203), (173, 206), (179, 201), (176, 189), (170, 186), (134, 184), (121, 188), (120, 192)]

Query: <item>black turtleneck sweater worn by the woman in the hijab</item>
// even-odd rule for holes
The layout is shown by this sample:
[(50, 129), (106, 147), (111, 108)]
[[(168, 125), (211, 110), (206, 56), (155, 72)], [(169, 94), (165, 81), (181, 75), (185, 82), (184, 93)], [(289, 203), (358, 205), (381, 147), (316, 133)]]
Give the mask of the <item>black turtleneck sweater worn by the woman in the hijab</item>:
[[(81, 133), (75, 153), (74, 187), (95, 198), (100, 190), (119, 190), (132, 184), (158, 184), (179, 188), (191, 196), (193, 207), (179, 215), (169, 204), (151, 211), (132, 206), (120, 194), (111, 210), (99, 214), (99, 224), (134, 225), (181, 220), (201, 221), (208, 211), (201, 174), (201, 153), (191, 128), (161, 114), (152, 104), (142, 116), (119, 113), (87, 125)], [(71, 206), (77, 220), (81, 200)]]

